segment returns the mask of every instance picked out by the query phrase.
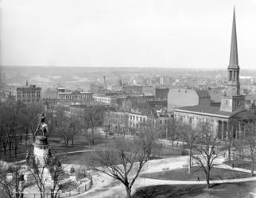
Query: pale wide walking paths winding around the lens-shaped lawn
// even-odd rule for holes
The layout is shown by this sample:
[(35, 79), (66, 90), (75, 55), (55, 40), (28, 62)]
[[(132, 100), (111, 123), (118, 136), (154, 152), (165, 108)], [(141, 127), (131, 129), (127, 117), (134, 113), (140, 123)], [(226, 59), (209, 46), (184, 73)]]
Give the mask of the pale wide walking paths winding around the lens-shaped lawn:
[[(188, 156), (181, 156), (176, 158), (166, 158), (159, 160), (151, 160), (147, 164), (145, 164), (142, 173), (155, 173), (165, 171), (163, 169), (171, 170), (178, 169), (184, 167), (184, 165), (188, 162)], [(219, 163), (223, 162), (223, 158), (218, 159)], [(232, 168), (231, 166), (227, 166), (224, 164), (220, 164), (219, 168), (223, 169), (232, 169), (237, 171), (242, 171), (246, 173), (250, 173), (248, 169), (241, 168)], [(255, 172), (256, 173), (256, 172)], [(210, 181), (211, 184), (223, 184), (223, 183), (239, 183), (246, 181), (256, 181), (256, 177), (248, 177), (248, 178), (239, 178), (239, 179), (230, 179), (230, 180), (215, 180)], [(142, 188), (150, 185), (204, 185), (206, 181), (171, 181), (171, 180), (157, 180), (157, 179), (149, 179), (144, 177), (138, 177), (137, 181), (135, 181), (133, 186), (133, 193), (137, 188)], [(76, 198), (82, 197), (91, 197), (91, 198), (101, 198), (101, 197), (113, 197), (113, 198), (121, 198), (126, 197), (126, 190), (124, 186), (118, 182), (114, 181), (113, 178), (104, 175), (103, 173), (97, 173), (97, 176), (94, 177), (94, 186), (88, 191), (79, 196), (75, 196)]]

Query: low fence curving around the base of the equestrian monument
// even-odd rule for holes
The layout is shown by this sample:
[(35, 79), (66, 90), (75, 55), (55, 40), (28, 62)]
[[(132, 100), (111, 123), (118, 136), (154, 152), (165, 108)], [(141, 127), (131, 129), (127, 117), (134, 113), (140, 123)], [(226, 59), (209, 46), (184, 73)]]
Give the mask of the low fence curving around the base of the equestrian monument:
[[(89, 183), (85, 183), (84, 185), (80, 185), (77, 188), (73, 189), (69, 192), (58, 192), (57, 198), (64, 198), (64, 197), (70, 197), (70, 196), (76, 196), (83, 192), (87, 192), (87, 190), (91, 189), (91, 186), (93, 185), (92, 177), (89, 175), (88, 177), (90, 179)], [(82, 183), (83, 184), (83, 183)], [(41, 198), (40, 192), (24, 192), (23, 193), (25, 198)], [(51, 198), (51, 192), (45, 192), (45, 198)]]

